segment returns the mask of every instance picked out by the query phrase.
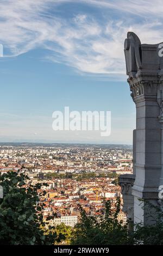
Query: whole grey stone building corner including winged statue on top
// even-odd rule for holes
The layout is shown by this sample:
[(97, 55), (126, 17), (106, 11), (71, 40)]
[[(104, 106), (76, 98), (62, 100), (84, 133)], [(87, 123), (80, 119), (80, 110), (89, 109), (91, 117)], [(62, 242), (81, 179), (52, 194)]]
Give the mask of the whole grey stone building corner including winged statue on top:
[(134, 174), (133, 177), (121, 175), (120, 185), (125, 195), (125, 187), (135, 179), (130, 188), (133, 205), (129, 207), (129, 200), (126, 202), (123, 198), (124, 209), (130, 210), (130, 216), (133, 209), (134, 222), (142, 221), (145, 225), (153, 223), (155, 216), (149, 216), (150, 206), (140, 204), (139, 198), (162, 209), (158, 192), (163, 185), (163, 57), (159, 56), (159, 51), (160, 44), (141, 44), (133, 32), (128, 32), (124, 41), (128, 83), (136, 105), (136, 130), (133, 135)]

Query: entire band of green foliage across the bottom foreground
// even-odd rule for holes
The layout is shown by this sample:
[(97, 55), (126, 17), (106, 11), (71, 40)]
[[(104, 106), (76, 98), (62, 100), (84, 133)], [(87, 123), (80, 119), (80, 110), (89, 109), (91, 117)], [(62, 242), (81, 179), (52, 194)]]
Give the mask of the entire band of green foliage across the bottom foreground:
[[(122, 225), (117, 220), (120, 198), (117, 198), (114, 209), (110, 201), (105, 202), (104, 215), (87, 216), (80, 206), (81, 221), (74, 228), (62, 223), (47, 229), (42, 216), (44, 204), (38, 203), (46, 192), (39, 192), (42, 184), (24, 187), (28, 179), (19, 172), (0, 176), (4, 192), (3, 199), (0, 199), (0, 245), (163, 245), (163, 213), (160, 208), (150, 206), (151, 212), (156, 212), (155, 223), (145, 227), (136, 224), (129, 232), (127, 224)], [(145, 207), (147, 204), (144, 202)]]

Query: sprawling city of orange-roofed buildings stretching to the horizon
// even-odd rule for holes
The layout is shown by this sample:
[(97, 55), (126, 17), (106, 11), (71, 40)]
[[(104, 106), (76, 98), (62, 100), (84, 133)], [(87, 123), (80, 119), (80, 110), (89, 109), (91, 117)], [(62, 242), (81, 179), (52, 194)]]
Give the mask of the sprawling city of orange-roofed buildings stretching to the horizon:
[[(1, 175), (10, 170), (26, 174), (27, 188), (39, 182), (41, 191), (46, 191), (39, 199), (40, 205), (44, 203), (46, 228), (63, 224), (65, 228), (74, 228), (80, 223), (79, 205), (88, 216), (102, 217), (105, 200), (114, 205), (117, 197), (121, 198), (118, 175), (132, 173), (132, 159), (131, 147), (122, 145), (0, 143)], [(3, 196), (3, 190), (0, 192)], [(47, 222), (49, 216), (52, 218)], [(122, 210), (117, 220), (126, 223)]]

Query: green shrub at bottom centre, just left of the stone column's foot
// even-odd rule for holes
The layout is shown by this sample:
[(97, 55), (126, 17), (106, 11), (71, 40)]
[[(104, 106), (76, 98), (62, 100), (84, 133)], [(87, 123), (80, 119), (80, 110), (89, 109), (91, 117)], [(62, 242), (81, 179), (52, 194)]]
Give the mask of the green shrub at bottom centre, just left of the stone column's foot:
[(72, 245), (126, 245), (127, 225), (118, 222), (120, 199), (117, 199), (115, 209), (110, 201), (105, 202), (105, 215), (87, 216), (81, 209), (82, 220), (73, 231)]

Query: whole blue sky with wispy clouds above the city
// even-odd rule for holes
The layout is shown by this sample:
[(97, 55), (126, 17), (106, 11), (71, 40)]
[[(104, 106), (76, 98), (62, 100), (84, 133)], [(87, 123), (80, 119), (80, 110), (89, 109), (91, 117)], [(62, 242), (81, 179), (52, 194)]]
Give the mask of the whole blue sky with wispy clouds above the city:
[[(0, 141), (132, 144), (123, 43), (163, 41), (162, 1), (1, 0)], [(54, 111), (111, 111), (111, 134), (54, 131)]]

